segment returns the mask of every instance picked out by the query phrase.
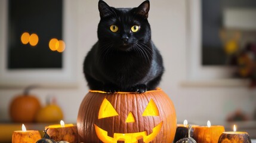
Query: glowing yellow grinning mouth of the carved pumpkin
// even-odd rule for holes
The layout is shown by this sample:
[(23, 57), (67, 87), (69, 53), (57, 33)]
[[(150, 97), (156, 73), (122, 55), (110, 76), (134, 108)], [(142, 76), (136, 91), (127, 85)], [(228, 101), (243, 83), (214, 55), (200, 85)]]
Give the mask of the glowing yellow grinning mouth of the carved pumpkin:
[(106, 130), (101, 129), (95, 124), (94, 124), (94, 127), (95, 127), (95, 132), (98, 138), (105, 143), (118, 142), (118, 141), (133, 143), (133, 142), (137, 142), (138, 139), (141, 139), (141, 138), (143, 138), (143, 142), (147, 143), (152, 141), (156, 137), (156, 135), (158, 135), (158, 133), (162, 129), (162, 125), (163, 125), (163, 122), (155, 126), (155, 128), (153, 128), (152, 133), (150, 133), (149, 135), (147, 135), (146, 131), (135, 132), (135, 133), (114, 133), (113, 138), (107, 135)]

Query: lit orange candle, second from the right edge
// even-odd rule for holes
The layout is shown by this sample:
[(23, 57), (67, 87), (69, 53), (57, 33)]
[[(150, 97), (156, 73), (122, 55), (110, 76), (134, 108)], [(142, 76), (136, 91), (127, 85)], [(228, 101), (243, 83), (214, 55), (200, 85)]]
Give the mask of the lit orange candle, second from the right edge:
[(193, 138), (198, 143), (216, 143), (224, 131), (224, 126), (212, 126), (208, 120), (207, 126), (195, 127)]

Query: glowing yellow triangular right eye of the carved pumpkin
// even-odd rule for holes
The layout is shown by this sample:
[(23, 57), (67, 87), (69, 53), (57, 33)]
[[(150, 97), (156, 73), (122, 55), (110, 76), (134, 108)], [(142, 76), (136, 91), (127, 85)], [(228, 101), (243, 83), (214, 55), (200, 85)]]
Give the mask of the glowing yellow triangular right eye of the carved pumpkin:
[(158, 107), (152, 99), (149, 101), (149, 104), (147, 104), (142, 116), (159, 116)]

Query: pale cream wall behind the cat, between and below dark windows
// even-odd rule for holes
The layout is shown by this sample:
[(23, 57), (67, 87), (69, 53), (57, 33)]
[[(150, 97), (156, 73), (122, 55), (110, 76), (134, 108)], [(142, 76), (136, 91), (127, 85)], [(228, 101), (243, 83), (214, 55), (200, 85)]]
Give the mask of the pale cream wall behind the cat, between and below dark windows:
[[(77, 49), (76, 66), (79, 77), (77, 88), (37, 88), (32, 94), (40, 98), (42, 104), (48, 96), (57, 97), (57, 102), (64, 111), (67, 122), (76, 122), (79, 104), (88, 92), (87, 83), (82, 73), (82, 63), (91, 46), (97, 41), (97, 24), (99, 15), (95, 0), (78, 0), (77, 17)], [(143, 1), (106, 1), (114, 7), (134, 7)], [(255, 91), (246, 87), (193, 87), (181, 86), (187, 79), (187, 5), (186, 0), (150, 1), (149, 22), (152, 27), (152, 39), (164, 57), (165, 74), (160, 87), (174, 102), (177, 120), (184, 119), (189, 123), (221, 123), (230, 111), (241, 109), (252, 115), (255, 109)], [(0, 122), (10, 120), (8, 105), (13, 97), (22, 89), (0, 89)]]

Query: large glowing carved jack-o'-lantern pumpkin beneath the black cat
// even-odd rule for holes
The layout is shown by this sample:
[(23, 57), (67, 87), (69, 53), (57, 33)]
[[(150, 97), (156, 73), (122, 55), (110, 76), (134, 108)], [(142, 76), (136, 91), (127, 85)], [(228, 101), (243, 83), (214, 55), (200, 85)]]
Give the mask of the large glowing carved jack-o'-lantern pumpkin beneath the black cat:
[(174, 105), (161, 89), (141, 94), (90, 91), (78, 113), (81, 142), (172, 142)]

